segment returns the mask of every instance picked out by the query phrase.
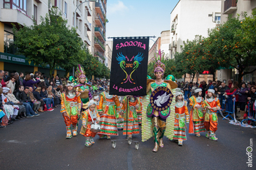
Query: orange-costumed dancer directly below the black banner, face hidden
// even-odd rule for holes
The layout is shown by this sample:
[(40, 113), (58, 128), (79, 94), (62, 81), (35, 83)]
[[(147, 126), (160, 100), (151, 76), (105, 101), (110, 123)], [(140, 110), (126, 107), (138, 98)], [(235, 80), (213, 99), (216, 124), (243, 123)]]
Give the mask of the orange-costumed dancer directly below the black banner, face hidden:
[[(127, 102), (127, 99), (128, 99), (128, 102)], [(128, 103), (128, 106), (127, 106), (127, 103)], [(136, 109), (140, 109), (138, 98), (134, 96), (125, 96), (122, 104), (123, 104), (123, 107), (121, 108), (120, 115), (124, 115), (123, 135), (128, 135), (128, 138), (132, 138), (132, 134), (140, 134), (138, 116), (136, 112)]]

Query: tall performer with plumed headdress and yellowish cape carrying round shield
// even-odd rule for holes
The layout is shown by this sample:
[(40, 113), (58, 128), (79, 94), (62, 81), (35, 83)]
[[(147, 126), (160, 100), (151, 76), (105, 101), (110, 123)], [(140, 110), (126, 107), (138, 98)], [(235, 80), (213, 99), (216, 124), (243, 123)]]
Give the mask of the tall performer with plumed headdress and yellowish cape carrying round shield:
[[(147, 96), (143, 97), (143, 102), (151, 102), (149, 100), (151, 93), (158, 87), (165, 87), (170, 90), (173, 95), (175, 95), (175, 89), (178, 87), (176, 82), (172, 80), (163, 80), (162, 77), (165, 73), (165, 64), (161, 62), (162, 54), (159, 50), (157, 54), (160, 56), (160, 61), (157, 61), (154, 64), (154, 75), (157, 77), (157, 80), (148, 79), (147, 81)], [(148, 77), (150, 78), (150, 77)], [(146, 112), (146, 114), (144, 114)], [(167, 109), (164, 111), (157, 111), (154, 107), (151, 106), (151, 103), (144, 109), (143, 108), (143, 118), (142, 118), (142, 141), (154, 136), (154, 149), (153, 152), (157, 152), (159, 147), (164, 147), (162, 141), (163, 136), (167, 136), (169, 139), (173, 139), (173, 129), (174, 129), (174, 120), (175, 120), (175, 101), (173, 100), (171, 104), (167, 105)], [(152, 129), (153, 128), (153, 129)]]

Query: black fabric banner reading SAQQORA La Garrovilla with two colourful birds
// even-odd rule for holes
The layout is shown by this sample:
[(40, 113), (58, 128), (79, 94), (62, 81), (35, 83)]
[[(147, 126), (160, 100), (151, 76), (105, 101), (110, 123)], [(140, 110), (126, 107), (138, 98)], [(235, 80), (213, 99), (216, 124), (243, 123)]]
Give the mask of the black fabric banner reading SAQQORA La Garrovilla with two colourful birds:
[(110, 94), (146, 95), (149, 37), (114, 38)]

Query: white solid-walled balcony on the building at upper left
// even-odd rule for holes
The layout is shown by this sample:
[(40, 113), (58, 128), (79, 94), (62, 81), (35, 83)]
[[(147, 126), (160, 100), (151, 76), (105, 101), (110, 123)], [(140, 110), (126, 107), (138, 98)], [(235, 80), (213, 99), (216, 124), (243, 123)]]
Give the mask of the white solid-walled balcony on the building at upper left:
[(18, 26), (18, 23), (20, 25), (24, 26), (31, 26), (33, 25), (33, 20), (28, 15), (23, 14), (18, 9), (4, 9), (1, 8), (1, 22), (2, 23), (14, 23), (16, 26)]

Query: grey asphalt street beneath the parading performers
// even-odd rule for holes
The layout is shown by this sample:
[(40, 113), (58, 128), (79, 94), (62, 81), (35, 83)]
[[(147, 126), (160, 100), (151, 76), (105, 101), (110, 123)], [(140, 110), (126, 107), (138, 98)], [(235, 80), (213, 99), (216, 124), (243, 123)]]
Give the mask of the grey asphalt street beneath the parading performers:
[[(256, 129), (231, 125), (219, 117), (218, 142), (188, 134), (184, 145), (178, 146), (166, 137), (165, 147), (152, 152), (153, 139), (127, 144), (122, 131), (116, 149), (110, 139), (94, 138), (92, 147), (85, 147), (85, 137), (78, 134), (66, 139), (64, 118), (56, 108), (39, 117), (15, 121), (0, 129), (0, 169), (248, 169), (246, 147), (252, 148), (256, 167)], [(80, 131), (81, 121), (79, 125)], [(255, 144), (255, 147), (254, 145)]]

